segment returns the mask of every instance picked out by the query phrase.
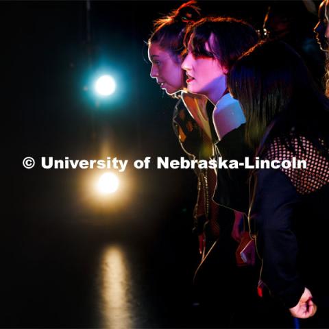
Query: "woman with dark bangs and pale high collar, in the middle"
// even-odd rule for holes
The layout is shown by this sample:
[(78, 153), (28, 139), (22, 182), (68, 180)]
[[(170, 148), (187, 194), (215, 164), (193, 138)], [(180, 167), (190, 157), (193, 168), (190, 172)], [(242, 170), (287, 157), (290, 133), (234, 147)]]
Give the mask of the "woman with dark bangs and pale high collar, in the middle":
[[(184, 44), (186, 57), (182, 69), (186, 71), (188, 79), (187, 89), (190, 93), (206, 96), (215, 106), (212, 120), (215, 125), (217, 138), (216, 158), (223, 160), (238, 160), (244, 162), (245, 157), (252, 154), (252, 150), (244, 141), (245, 117), (241, 106), (228, 93), (226, 84), (227, 74), (232, 64), (245, 51), (258, 42), (256, 30), (244, 21), (230, 17), (208, 17), (193, 25), (189, 25)], [(217, 170), (217, 188), (214, 200), (221, 208), (228, 208), (234, 213), (234, 221), (221, 221), (221, 236), (218, 247), (222, 253), (232, 255), (239, 265), (251, 265), (252, 258), (242, 258), (240, 252), (252, 250), (249, 233), (246, 230), (247, 221), (244, 213), (249, 208), (249, 186), (247, 184), (248, 171), (246, 169)], [(243, 228), (244, 227), (244, 228)], [(240, 242), (232, 248), (230, 239)], [(213, 267), (216, 265), (212, 261)], [(202, 277), (203, 273), (198, 273)], [(233, 326), (259, 326), (260, 319), (256, 319), (256, 271), (254, 267), (235, 267), (234, 276), (228, 282), (234, 284), (227, 304), (235, 316)], [(210, 281), (211, 282), (211, 281)], [(227, 285), (226, 289), (230, 289)], [(226, 295), (229, 295), (227, 293)], [(248, 301), (247, 303), (245, 301)]]

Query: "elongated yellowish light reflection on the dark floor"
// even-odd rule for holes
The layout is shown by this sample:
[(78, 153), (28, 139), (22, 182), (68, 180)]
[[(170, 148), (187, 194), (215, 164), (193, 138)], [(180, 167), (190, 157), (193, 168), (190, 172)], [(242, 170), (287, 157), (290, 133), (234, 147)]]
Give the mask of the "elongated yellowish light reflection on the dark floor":
[(101, 258), (102, 328), (129, 329), (132, 324), (130, 271), (123, 250), (112, 245)]

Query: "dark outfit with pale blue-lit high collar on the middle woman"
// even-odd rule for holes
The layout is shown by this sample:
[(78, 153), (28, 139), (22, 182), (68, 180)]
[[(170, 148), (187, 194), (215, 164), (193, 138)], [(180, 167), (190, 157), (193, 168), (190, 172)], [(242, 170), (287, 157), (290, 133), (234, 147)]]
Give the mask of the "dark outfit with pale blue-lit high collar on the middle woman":
[[(245, 162), (245, 157), (253, 158), (254, 151), (245, 143), (245, 117), (243, 111), (239, 101), (233, 99), (229, 93), (223, 95), (216, 104), (213, 112), (213, 122), (218, 137), (215, 144), (216, 157), (220, 156), (223, 160), (238, 160), (239, 162)], [(249, 169), (245, 169), (245, 167), (218, 169), (217, 186), (213, 199), (222, 206), (221, 208), (230, 208), (245, 214), (240, 223), (241, 237), (243, 234), (247, 234), (249, 237), (246, 217), (249, 209)], [(221, 221), (219, 221), (219, 224), (221, 228), (224, 227)], [(230, 242), (229, 234), (232, 231), (232, 223), (226, 223), (226, 225), (228, 226), (227, 233), (221, 244), (223, 249), (226, 249), (226, 244)], [(243, 242), (241, 241), (241, 243)], [(263, 320), (258, 316), (261, 306), (256, 291), (260, 271), (259, 263), (254, 266), (237, 267), (236, 262), (244, 263), (240, 259), (239, 253), (237, 253), (237, 258), (235, 257), (236, 249), (239, 250), (237, 245), (234, 250), (232, 250), (232, 247), (226, 249), (226, 252), (234, 254), (235, 267), (234, 271), (230, 273), (234, 278), (231, 299), (232, 309), (235, 311), (230, 326), (239, 328), (245, 328), (245, 326), (258, 327)]]

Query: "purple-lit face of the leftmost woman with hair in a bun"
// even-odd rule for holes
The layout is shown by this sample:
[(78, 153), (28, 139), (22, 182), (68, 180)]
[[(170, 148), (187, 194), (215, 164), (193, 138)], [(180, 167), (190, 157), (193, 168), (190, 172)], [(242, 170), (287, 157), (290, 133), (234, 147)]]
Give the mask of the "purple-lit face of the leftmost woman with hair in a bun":
[(161, 89), (168, 95), (177, 93), (184, 88), (184, 71), (180, 58), (173, 56), (171, 51), (160, 47), (158, 42), (149, 44), (149, 61), (151, 62), (151, 77), (156, 79)]

